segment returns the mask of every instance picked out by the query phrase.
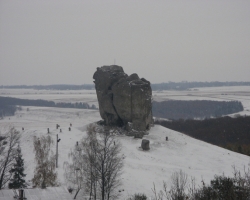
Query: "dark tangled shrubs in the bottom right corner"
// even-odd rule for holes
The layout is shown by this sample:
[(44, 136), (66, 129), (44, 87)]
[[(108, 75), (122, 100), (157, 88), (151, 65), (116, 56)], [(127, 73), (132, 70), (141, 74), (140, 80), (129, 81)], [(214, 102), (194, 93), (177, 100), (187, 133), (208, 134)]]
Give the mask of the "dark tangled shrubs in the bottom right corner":
[(154, 200), (249, 200), (250, 199), (250, 169), (245, 169), (241, 174), (233, 167), (233, 177), (214, 176), (210, 184), (202, 181), (202, 186), (196, 189), (195, 179), (187, 181), (187, 175), (182, 172), (175, 172), (171, 176), (171, 187), (167, 188), (163, 182), (163, 190), (156, 191), (155, 185), (152, 189)]

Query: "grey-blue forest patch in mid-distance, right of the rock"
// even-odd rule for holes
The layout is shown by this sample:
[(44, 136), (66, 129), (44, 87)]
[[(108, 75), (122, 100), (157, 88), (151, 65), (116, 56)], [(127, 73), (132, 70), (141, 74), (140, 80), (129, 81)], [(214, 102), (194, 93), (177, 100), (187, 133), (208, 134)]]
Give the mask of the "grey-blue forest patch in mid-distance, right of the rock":
[(204, 119), (220, 117), (243, 110), (243, 105), (239, 101), (170, 100), (154, 101), (152, 104), (153, 116), (167, 119)]

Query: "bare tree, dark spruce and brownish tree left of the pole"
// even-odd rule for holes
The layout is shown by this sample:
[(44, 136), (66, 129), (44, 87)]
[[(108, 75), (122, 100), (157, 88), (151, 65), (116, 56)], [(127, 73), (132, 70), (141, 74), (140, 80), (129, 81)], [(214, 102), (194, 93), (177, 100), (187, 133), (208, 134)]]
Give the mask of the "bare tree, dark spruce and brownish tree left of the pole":
[[(9, 188), (26, 187), (23, 177), (23, 159), (19, 146), (20, 133), (10, 127), (0, 136), (0, 189), (9, 183)], [(35, 187), (57, 185), (55, 172), (55, 156), (50, 150), (53, 140), (50, 136), (34, 137), (34, 152), (36, 168), (32, 179)]]

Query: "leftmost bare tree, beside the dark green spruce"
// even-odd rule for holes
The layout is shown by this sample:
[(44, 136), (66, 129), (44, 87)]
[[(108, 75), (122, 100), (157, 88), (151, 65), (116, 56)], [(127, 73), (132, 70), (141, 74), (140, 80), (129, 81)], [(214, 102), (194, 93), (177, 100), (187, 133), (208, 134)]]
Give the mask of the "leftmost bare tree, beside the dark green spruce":
[(19, 140), (19, 132), (14, 127), (10, 127), (0, 142), (0, 189), (11, 178), (10, 170), (14, 165)]

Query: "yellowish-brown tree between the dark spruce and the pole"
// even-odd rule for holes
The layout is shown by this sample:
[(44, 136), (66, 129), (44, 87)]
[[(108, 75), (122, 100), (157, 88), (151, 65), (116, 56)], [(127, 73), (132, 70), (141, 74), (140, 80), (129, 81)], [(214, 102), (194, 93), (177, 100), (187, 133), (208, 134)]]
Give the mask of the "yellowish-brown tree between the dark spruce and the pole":
[(34, 178), (32, 179), (34, 186), (46, 188), (47, 186), (58, 185), (57, 173), (55, 172), (55, 155), (50, 150), (53, 144), (52, 138), (49, 135), (41, 138), (35, 136), (33, 144), (36, 161)]

